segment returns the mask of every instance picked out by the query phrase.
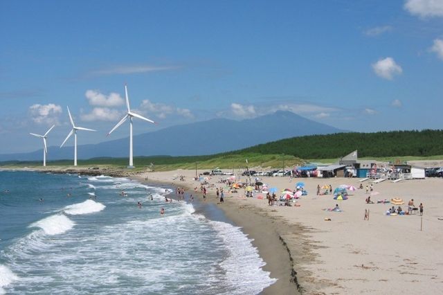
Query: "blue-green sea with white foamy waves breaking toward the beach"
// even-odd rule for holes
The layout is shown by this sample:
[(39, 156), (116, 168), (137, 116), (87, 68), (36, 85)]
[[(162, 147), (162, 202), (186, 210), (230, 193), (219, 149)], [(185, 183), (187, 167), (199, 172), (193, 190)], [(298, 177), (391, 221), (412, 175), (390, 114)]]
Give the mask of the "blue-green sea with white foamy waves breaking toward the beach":
[(126, 178), (0, 171), (0, 294), (257, 294), (275, 282), (239, 227), (165, 197)]

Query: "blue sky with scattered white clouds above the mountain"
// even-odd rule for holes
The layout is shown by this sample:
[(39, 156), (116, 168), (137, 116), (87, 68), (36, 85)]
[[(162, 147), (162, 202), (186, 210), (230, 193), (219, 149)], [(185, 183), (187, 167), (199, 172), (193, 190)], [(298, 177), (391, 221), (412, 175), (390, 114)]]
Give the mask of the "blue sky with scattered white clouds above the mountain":
[[(342, 129), (442, 129), (443, 0), (0, 2), (0, 153), (278, 109)], [(66, 145), (73, 145), (70, 140)]]

